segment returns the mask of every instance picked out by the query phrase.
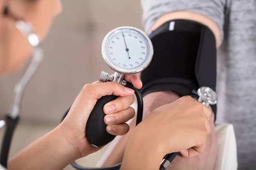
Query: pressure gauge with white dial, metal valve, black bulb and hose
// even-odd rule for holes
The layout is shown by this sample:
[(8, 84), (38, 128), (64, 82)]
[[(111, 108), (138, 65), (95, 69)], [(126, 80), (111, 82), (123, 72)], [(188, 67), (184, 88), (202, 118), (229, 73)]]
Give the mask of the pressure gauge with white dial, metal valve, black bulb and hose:
[[(148, 67), (153, 57), (153, 45), (150, 39), (143, 31), (134, 27), (125, 26), (113, 29), (102, 42), (102, 57), (115, 73), (111, 76), (102, 71), (99, 81), (114, 81), (134, 90), (137, 98), (134, 104), (137, 103), (136, 124), (138, 124), (143, 117), (142, 94), (130, 82), (125, 81), (125, 75), (137, 74)], [(115, 95), (101, 97), (90, 113), (86, 125), (86, 136), (93, 146), (105, 146), (116, 137), (106, 131), (107, 125), (104, 123), (106, 114), (103, 106), (117, 97)]]

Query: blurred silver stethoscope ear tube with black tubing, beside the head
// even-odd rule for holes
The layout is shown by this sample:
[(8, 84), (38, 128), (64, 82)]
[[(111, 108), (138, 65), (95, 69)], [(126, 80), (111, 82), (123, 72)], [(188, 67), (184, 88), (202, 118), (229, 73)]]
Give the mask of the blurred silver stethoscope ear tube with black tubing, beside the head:
[(7, 167), (12, 135), (14, 133), (15, 127), (19, 122), (21, 108), (20, 103), (22, 100), (24, 89), (26, 88), (26, 85), (29, 83), (30, 79), (37, 71), (38, 66), (41, 63), (41, 60), (43, 59), (43, 51), (39, 45), (40, 41), (38, 36), (35, 33), (33, 33), (32, 26), (30, 26), (29, 23), (26, 23), (22, 20), (16, 21), (15, 26), (24, 35), (24, 37), (27, 38), (30, 45), (33, 47), (33, 54), (29, 67), (26, 69), (26, 72), (23, 74), (23, 77), (15, 86), (14, 102), (12, 103), (10, 112), (6, 114), (6, 130), (3, 137), (0, 155), (0, 164), (2, 164), (3, 167)]

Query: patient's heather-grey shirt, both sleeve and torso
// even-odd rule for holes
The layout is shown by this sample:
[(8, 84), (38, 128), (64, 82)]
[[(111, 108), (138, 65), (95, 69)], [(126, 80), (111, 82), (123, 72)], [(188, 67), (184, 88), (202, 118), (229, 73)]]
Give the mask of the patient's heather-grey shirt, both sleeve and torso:
[(145, 30), (171, 11), (209, 17), (221, 30), (218, 122), (234, 125), (239, 169), (256, 169), (256, 0), (142, 0)]

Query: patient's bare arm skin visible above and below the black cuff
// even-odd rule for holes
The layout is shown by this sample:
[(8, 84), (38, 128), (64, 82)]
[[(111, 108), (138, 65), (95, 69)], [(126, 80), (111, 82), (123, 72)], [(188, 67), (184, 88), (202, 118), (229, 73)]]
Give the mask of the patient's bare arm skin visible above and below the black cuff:
[[(187, 20), (193, 20), (199, 23), (202, 23), (206, 26), (208, 26), (212, 32), (215, 35), (216, 39), (216, 45), (218, 46), (221, 40), (221, 31), (218, 27), (218, 25), (209, 19), (208, 17), (205, 17), (201, 14), (196, 14), (193, 12), (188, 11), (176, 11), (171, 12), (168, 14), (163, 15), (160, 17), (154, 26), (152, 26), (151, 30), (154, 30), (161, 26), (163, 23), (169, 20), (175, 20), (175, 19), (187, 19)], [(174, 102), (176, 99), (178, 99), (179, 96), (177, 94), (172, 92), (155, 92), (152, 94), (146, 95), (144, 99), (144, 117), (150, 114), (152, 111), (154, 111), (155, 108), (158, 108), (161, 105)], [(216, 144), (216, 138), (215, 138), (215, 132), (214, 132), (214, 116), (211, 118), (211, 127), (212, 127), (212, 133), (207, 138), (207, 148), (206, 151), (201, 154), (200, 156), (197, 156), (192, 159), (185, 159), (181, 156), (177, 156), (175, 160), (170, 164), (170, 169), (212, 169), (215, 164), (215, 159), (217, 155), (217, 144)], [(133, 121), (130, 125), (130, 127), (134, 127), (135, 121)], [(111, 146), (112, 148), (109, 148), (111, 150), (111, 153), (106, 156), (104, 163), (101, 164), (103, 167), (110, 166), (116, 163), (119, 163), (122, 161), (123, 153), (125, 150), (125, 144), (126, 140), (128, 139), (129, 133), (125, 136), (122, 136), (121, 139), (119, 139), (119, 142), (115, 144), (115, 146)], [(194, 168), (193, 168), (194, 167)], [(167, 169), (169, 169), (167, 168)]]

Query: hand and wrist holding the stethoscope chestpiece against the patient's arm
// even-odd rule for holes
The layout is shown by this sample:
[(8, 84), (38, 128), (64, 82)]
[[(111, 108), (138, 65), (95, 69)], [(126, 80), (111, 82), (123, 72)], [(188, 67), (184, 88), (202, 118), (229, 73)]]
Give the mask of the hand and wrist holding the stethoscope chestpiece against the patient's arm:
[(204, 152), (211, 114), (189, 96), (155, 109), (131, 132), (121, 170), (158, 170), (168, 153), (182, 150), (184, 157), (192, 158)]

